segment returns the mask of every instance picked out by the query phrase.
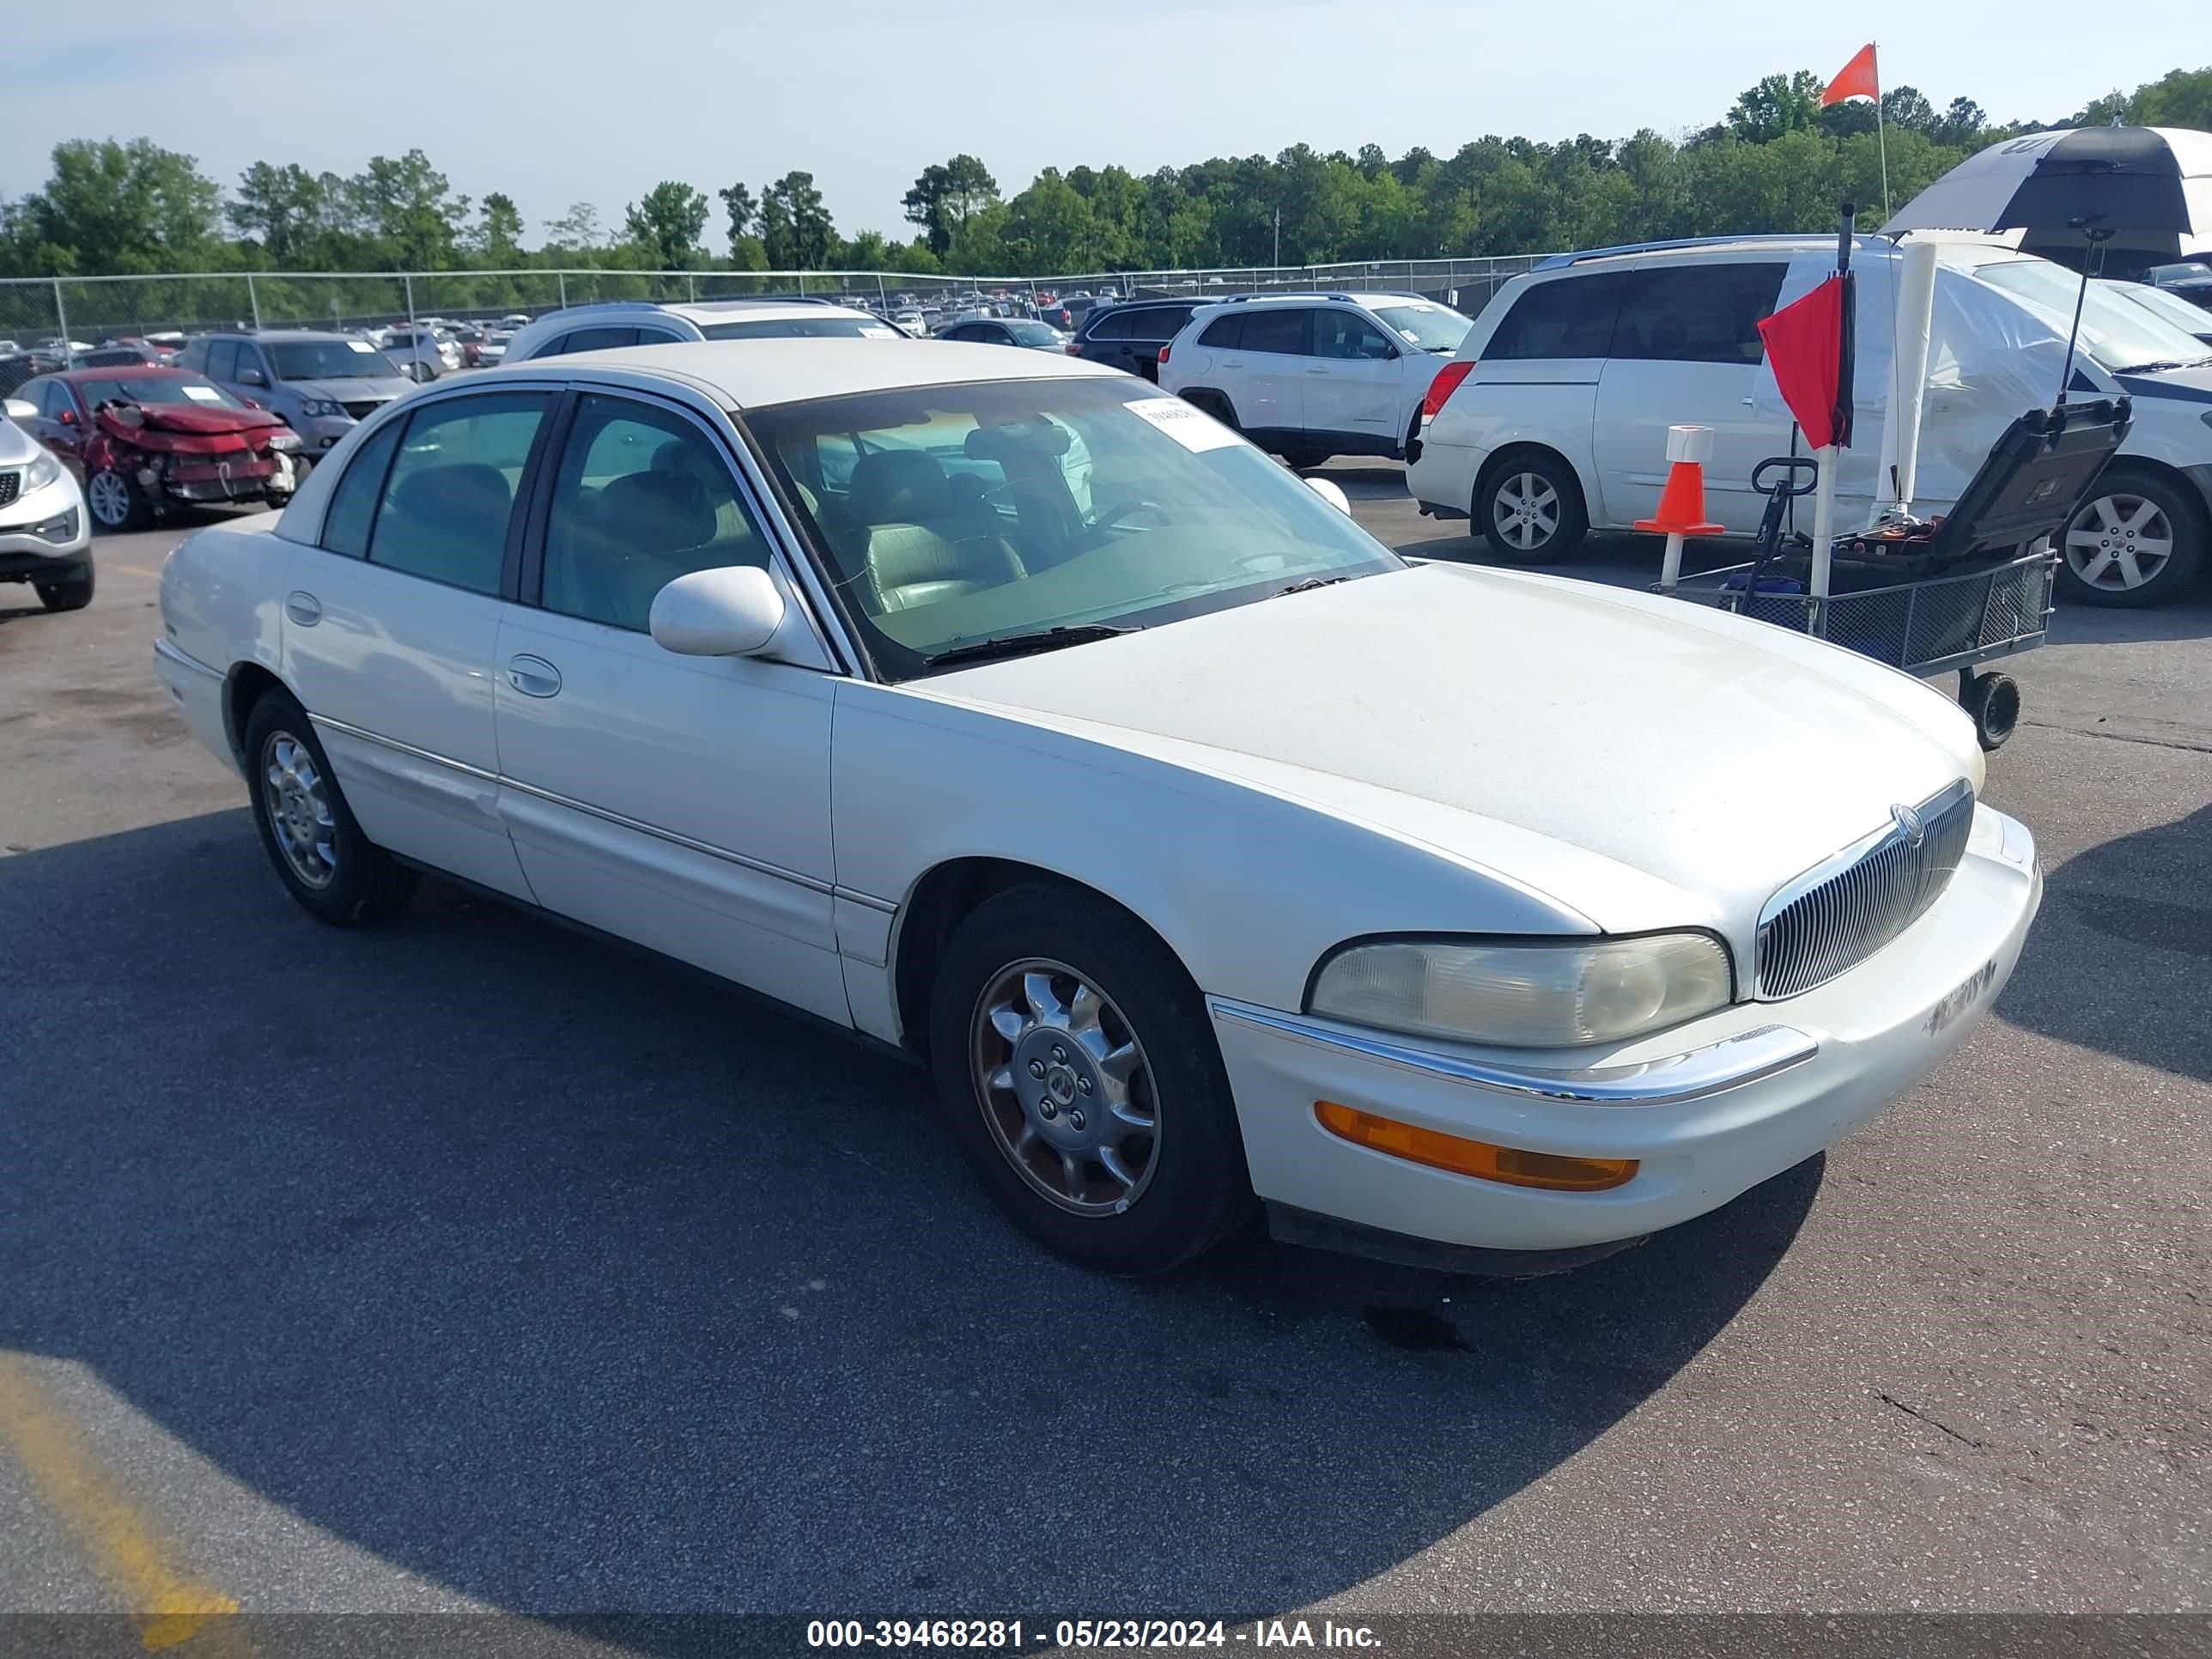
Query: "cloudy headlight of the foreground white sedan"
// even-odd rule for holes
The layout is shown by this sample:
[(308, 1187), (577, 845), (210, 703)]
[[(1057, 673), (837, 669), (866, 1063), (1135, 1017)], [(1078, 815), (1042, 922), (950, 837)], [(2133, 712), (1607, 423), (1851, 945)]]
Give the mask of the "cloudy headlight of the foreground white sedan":
[(1721, 1009), (1728, 951), (1705, 933), (1489, 945), (1347, 945), (1314, 975), (1307, 1013), (1509, 1048), (1619, 1042)]

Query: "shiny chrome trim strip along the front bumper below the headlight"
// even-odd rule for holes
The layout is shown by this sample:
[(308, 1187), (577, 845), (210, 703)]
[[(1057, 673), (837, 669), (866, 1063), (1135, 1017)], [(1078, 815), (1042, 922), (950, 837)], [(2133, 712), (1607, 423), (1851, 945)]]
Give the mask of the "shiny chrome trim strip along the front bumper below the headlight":
[(1703, 1099), (1792, 1071), (1820, 1053), (1820, 1044), (1812, 1035), (1776, 1024), (1739, 1031), (1734, 1037), (1661, 1060), (1644, 1060), (1628, 1066), (1548, 1071), (1542, 1066), (1500, 1066), (1486, 1060), (1407, 1048), (1385, 1037), (1340, 1031), (1294, 1013), (1279, 1013), (1228, 998), (1208, 998), (1206, 1006), (1214, 1020), (1259, 1026), (1279, 1037), (1329, 1048), (1356, 1060), (1371, 1060), (1383, 1066), (1398, 1066), (1429, 1079), (1475, 1084), (1478, 1088), (1500, 1088), (1509, 1095), (1562, 1099), (1577, 1106), (1672, 1106), (1686, 1099)]

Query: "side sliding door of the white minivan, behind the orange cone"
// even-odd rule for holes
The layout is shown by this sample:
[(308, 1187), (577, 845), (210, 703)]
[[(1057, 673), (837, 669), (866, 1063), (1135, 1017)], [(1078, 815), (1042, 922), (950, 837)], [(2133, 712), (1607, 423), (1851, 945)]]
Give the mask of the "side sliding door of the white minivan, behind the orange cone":
[(1774, 312), (1787, 257), (1659, 263), (1630, 274), (1597, 385), (1590, 451), (1604, 518), (1650, 518), (1666, 482), (1666, 429), (1712, 427), (1705, 518), (1756, 531), (1765, 498), (1752, 469), (1790, 449), (1787, 425), (1759, 409), (1765, 345), (1759, 319)]

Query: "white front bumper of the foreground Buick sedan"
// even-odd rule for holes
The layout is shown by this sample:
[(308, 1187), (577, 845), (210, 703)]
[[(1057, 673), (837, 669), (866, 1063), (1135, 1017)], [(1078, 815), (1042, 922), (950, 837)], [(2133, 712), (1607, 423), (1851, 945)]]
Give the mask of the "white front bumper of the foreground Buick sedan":
[[(1225, 998), (1208, 1009), (1270, 1210), (1349, 1223), (1347, 1237), (1582, 1250), (1717, 1210), (1874, 1117), (1995, 1000), (2039, 902), (2035, 841), (1978, 807), (1944, 896), (1856, 969), (1613, 1051), (1451, 1048)], [(1343, 1141), (1314, 1117), (1321, 1099), (1639, 1168), (1610, 1192), (1502, 1186)]]

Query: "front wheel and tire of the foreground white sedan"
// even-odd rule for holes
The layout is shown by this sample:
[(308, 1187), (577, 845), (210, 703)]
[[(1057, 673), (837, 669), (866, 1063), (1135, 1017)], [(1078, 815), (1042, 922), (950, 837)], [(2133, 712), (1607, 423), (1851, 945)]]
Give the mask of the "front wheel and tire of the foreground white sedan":
[(1006, 1217), (1110, 1274), (1155, 1274), (1252, 1210), (1221, 1051), (1183, 964), (1057, 883), (984, 900), (929, 1011), (947, 1126)]

